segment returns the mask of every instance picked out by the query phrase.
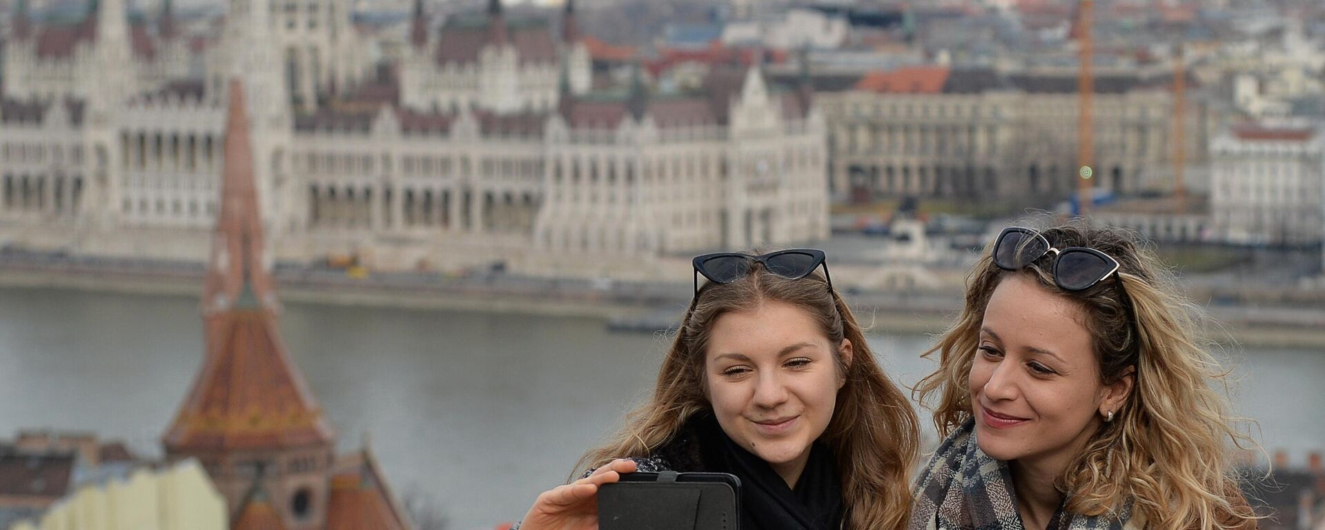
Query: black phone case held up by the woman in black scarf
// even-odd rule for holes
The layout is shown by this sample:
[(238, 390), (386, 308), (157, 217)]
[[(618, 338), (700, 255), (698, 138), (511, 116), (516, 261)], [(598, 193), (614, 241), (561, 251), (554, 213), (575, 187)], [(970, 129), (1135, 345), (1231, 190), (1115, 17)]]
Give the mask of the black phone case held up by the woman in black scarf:
[(739, 488), (727, 473), (625, 473), (599, 489), (598, 527), (739, 530)]

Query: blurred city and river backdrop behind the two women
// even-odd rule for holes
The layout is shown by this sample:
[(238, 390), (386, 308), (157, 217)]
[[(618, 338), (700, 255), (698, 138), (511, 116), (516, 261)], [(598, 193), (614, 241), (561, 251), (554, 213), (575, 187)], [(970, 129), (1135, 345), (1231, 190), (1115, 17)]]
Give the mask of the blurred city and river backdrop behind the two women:
[(1151, 244), (1264, 527), (1325, 529), (1316, 0), (0, 0), (0, 529), (500, 529), (644, 398), (694, 254), (824, 249), (912, 384), (1028, 215)]

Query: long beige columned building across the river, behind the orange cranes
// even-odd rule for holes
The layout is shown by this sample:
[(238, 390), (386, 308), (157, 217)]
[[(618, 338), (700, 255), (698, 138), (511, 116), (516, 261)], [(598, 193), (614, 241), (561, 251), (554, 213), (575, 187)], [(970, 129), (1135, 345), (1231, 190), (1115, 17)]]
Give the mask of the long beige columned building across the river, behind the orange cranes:
[[(1101, 74), (1094, 95), (1096, 186), (1167, 189), (1171, 76)], [(1076, 189), (1077, 80), (1055, 73), (910, 66), (820, 94), (837, 200), (1064, 199)], [(1203, 189), (1206, 114), (1189, 103), (1190, 188)]]

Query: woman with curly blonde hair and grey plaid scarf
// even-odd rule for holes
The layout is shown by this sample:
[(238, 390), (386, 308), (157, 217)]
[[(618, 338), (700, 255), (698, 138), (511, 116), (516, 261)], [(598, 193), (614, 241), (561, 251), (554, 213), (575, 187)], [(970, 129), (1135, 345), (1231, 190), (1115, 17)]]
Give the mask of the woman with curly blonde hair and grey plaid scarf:
[(1256, 527), (1230, 456), (1255, 443), (1166, 274), (1118, 229), (1003, 229), (925, 354), (946, 439), (910, 529)]

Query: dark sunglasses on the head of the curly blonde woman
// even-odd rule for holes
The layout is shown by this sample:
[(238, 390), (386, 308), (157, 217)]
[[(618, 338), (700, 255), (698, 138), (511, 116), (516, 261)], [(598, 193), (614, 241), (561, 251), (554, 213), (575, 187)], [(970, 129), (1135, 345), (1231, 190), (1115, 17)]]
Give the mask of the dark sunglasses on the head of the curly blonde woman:
[(1118, 260), (1093, 248), (1053, 248), (1044, 235), (1022, 227), (1008, 227), (994, 240), (994, 265), (1018, 270), (1053, 254), (1053, 282), (1063, 290), (1090, 289), (1118, 272)]

